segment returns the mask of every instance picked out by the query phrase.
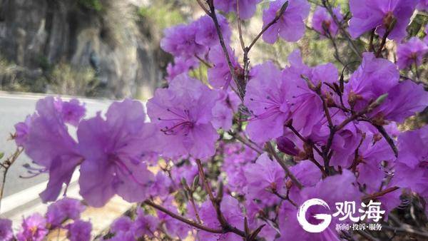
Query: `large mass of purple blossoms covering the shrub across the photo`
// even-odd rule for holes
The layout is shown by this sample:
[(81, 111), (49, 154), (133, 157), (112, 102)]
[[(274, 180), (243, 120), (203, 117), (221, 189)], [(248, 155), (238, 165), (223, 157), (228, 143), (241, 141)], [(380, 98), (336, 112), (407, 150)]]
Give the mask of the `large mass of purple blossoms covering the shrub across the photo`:
[[(249, 19), (259, 2), (208, 4)], [(203, 16), (165, 31), (161, 46), (174, 56), (175, 65), (168, 66), (168, 87), (148, 100), (147, 113), (141, 102), (126, 99), (112, 103), (105, 117), (83, 118), (78, 101), (48, 97), (16, 124), (16, 144), (36, 165), (29, 172), (49, 173), (41, 193), (45, 202), (56, 200), (78, 169), (80, 194), (88, 205), (102, 207), (119, 195), (144, 207), (135, 217), (116, 220), (106, 240), (162, 234), (200, 240), (242, 240), (245, 235), (337, 240), (337, 218), (327, 230), (312, 234), (297, 222), (297, 208), (310, 198), (333, 207), (368, 196), (382, 201), (389, 212), (404, 195), (428, 200), (428, 129), (397, 128), (428, 105), (423, 86), (400, 76), (411, 66), (417, 71), (428, 52), (427, 43), (417, 37), (402, 41), (410, 17), (416, 8), (426, 9), (425, 3), (350, 0), (347, 29), (340, 7), (317, 7), (312, 26), (321, 36), (333, 39), (349, 31), (346, 37), (357, 38), (371, 31), (380, 41), (399, 43), (397, 63), (382, 58), (380, 44), (379, 51), (361, 53), (349, 76), (333, 63), (307, 65), (298, 49), (285, 68), (265, 61), (246, 69), (230, 47), (227, 19), (214, 13), (223, 33), (219, 39), (212, 16)], [(278, 36), (298, 41), (309, 12), (306, 0), (271, 1), (259, 36), (267, 43)], [(200, 63), (208, 68), (209, 84), (187, 73)], [(77, 127), (77, 140), (68, 125)], [(215, 182), (205, 180), (203, 167), (210, 168), (207, 177)], [(210, 188), (213, 183), (220, 184)], [(86, 240), (91, 227), (78, 220), (81, 211), (76, 202), (61, 200), (46, 217), (24, 220), (16, 237), (39, 240), (69, 218), (75, 220), (66, 225), (71, 240)], [(312, 216), (320, 211), (310, 210), (309, 221), (316, 223)], [(0, 235), (10, 238), (10, 226), (1, 220)]]

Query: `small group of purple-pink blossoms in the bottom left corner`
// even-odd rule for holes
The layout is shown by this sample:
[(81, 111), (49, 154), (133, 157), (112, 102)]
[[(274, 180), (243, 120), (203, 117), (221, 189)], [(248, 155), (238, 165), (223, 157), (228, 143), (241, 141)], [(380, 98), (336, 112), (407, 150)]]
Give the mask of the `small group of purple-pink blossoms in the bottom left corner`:
[[(49, 230), (62, 228), (67, 230), (67, 237), (72, 241), (85, 241), (91, 239), (91, 222), (80, 219), (85, 206), (79, 200), (63, 198), (49, 205), (44, 216), (34, 213), (25, 217), (20, 230), (14, 235), (12, 222), (0, 219), (0, 240), (11, 241), (41, 241), (46, 240)], [(68, 222), (64, 224), (67, 220)]]

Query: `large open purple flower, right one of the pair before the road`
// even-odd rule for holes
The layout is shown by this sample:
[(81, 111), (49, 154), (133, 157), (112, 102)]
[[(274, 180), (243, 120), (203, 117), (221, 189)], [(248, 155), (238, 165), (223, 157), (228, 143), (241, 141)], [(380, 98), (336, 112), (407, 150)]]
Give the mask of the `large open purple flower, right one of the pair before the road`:
[(148, 197), (154, 176), (142, 160), (155, 148), (156, 126), (144, 123), (138, 101), (111, 104), (106, 120), (98, 116), (81, 121), (77, 135), (85, 161), (81, 165), (80, 194), (93, 207), (103, 206), (114, 194), (128, 202)]

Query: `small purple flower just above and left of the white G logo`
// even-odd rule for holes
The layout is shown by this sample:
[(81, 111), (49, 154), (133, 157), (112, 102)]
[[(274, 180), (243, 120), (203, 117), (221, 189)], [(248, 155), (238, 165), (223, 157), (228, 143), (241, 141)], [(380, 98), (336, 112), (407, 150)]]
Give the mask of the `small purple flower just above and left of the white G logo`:
[(263, 197), (261, 201), (267, 203), (277, 201), (272, 192), (280, 193), (285, 183), (284, 170), (277, 162), (270, 160), (266, 153), (260, 155), (254, 164), (245, 166), (245, 178), (250, 200)]

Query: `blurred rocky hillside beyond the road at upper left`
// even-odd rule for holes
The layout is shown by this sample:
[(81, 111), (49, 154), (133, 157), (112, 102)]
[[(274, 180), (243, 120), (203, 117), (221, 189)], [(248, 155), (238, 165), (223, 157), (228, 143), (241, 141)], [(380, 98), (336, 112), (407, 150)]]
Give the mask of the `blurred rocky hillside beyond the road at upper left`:
[(136, 0), (0, 0), (0, 89), (147, 98), (167, 61)]

